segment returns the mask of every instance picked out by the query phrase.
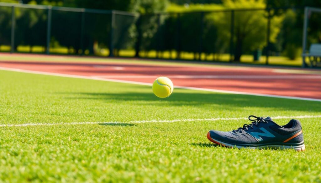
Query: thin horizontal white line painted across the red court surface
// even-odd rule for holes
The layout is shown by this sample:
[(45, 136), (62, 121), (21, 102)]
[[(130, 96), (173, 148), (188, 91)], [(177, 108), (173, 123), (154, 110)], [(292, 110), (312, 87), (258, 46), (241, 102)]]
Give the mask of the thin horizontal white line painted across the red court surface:
[[(91, 77), (100, 77), (100, 78), (158, 78), (158, 75), (97, 75)], [(268, 76), (268, 75), (173, 75), (167, 76), (169, 78), (177, 79), (321, 79), (321, 75), (284, 75), (284, 76)]]

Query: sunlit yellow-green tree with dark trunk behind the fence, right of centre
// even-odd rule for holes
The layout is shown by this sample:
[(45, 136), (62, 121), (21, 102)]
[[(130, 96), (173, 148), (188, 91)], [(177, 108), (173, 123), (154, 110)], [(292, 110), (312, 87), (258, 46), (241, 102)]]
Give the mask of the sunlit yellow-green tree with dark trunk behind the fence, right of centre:
[[(240, 8), (262, 8), (265, 9), (263, 0), (224, 0), (223, 5), (228, 9)], [(219, 21), (230, 23), (226, 14)], [(235, 42), (234, 61), (240, 61), (241, 55), (247, 51), (262, 50), (266, 45), (268, 14), (265, 10), (235, 11), (234, 32)], [(275, 42), (275, 38), (280, 31), (282, 18), (273, 16), (271, 18), (270, 41)], [(224, 24), (221, 22), (221, 24)], [(221, 29), (219, 29), (221, 30)], [(221, 30), (225, 31), (225, 30)]]

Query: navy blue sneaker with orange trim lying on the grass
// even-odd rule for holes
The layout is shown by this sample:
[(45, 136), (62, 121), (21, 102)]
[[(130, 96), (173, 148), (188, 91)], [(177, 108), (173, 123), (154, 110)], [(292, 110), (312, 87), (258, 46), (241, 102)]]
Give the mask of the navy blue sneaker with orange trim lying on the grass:
[(227, 147), (305, 150), (300, 121), (291, 120), (280, 126), (270, 117), (249, 116), (248, 119), (253, 121), (252, 124), (245, 124), (243, 128), (228, 132), (211, 130), (207, 133), (207, 138), (215, 144)]

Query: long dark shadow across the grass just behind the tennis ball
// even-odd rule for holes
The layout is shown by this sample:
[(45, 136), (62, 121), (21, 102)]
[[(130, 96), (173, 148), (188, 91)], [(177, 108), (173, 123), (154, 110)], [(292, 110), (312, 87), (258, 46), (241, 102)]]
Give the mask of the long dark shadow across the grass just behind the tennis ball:
[[(140, 86), (142, 87), (142, 86)], [(124, 88), (126, 90), (126, 88)], [(128, 91), (133, 88), (128, 88)], [(144, 90), (143, 90), (144, 91)], [(106, 102), (116, 101), (136, 101), (143, 105), (163, 105), (163, 106), (204, 106), (208, 104), (222, 105), (222, 109), (237, 109), (240, 107), (262, 107), (275, 108), (276, 110), (294, 110), (319, 112), (321, 102), (304, 101), (284, 98), (273, 98), (263, 96), (235, 95), (226, 93), (205, 93), (201, 91), (185, 92), (182, 89), (175, 89), (175, 92), (168, 98), (160, 99), (152, 92), (119, 92), (119, 93), (59, 93), (66, 95), (67, 99), (101, 100)], [(147, 102), (147, 103), (146, 103)]]

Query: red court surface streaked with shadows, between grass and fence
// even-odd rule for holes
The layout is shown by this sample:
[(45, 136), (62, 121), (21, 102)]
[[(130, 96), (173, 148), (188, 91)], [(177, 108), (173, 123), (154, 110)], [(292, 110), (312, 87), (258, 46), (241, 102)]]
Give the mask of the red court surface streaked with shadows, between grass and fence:
[[(321, 79), (318, 75), (275, 73), (273, 72), (273, 68), (245, 67), (239, 69), (234, 67), (181, 67), (130, 63), (119, 64), (110, 62), (69, 63), (7, 61), (0, 62), (0, 67), (73, 76), (95, 76), (96, 78), (101, 78), (101, 80), (108, 79), (144, 84), (152, 83), (158, 76), (167, 76), (172, 79), (175, 86), (181, 86), (188, 89), (258, 96), (284, 96), (285, 98), (300, 97), (301, 99), (309, 98), (311, 100), (317, 99), (316, 101), (321, 101)], [(117, 77), (117, 75), (119, 77)], [(125, 78), (126, 76), (129, 78)], [(173, 76), (173, 78), (171, 78), (171, 76)], [(175, 76), (186, 76), (186, 78)], [(190, 78), (188, 78), (188, 76), (190, 76)], [(206, 78), (208, 76), (215, 76), (217, 78)], [(250, 79), (249, 77), (253, 78)], [(265, 77), (270, 79), (264, 79)]]

